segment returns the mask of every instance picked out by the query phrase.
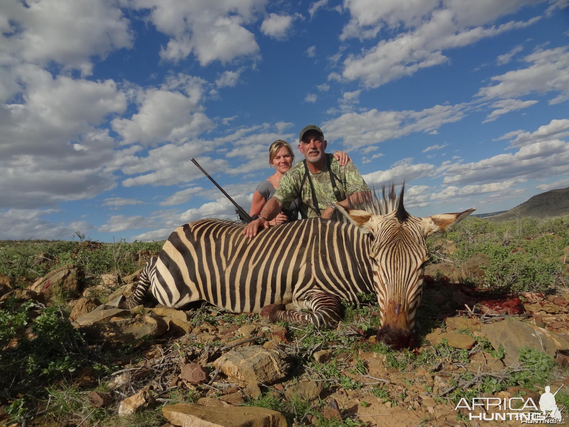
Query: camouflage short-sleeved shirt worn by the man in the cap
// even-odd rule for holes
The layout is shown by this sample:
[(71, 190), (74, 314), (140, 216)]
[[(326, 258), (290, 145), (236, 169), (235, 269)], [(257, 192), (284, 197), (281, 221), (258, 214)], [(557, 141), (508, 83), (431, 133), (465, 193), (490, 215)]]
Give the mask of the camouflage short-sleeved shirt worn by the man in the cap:
[[(309, 173), (312, 178), (312, 184), (314, 184), (318, 207), (320, 212), (324, 212), (325, 208), (336, 202), (336, 196), (330, 181), (330, 173), (328, 172), (328, 164), (318, 173), (312, 173), (310, 170)], [(340, 163), (335, 158), (332, 158), (332, 173), (335, 175), (336, 186), (340, 190), (342, 199), (357, 192), (369, 191), (368, 184), (365, 183), (360, 171), (351, 162), (348, 162), (345, 166), (340, 166)], [(316, 212), (314, 211), (312, 190), (308, 177), (304, 180), (302, 191), (299, 191), (305, 174), (304, 163), (296, 163), (283, 175), (279, 188), (277, 188), (277, 192), (275, 192), (273, 197), (281, 202), (284, 208), (288, 208), (292, 200), (296, 199), (300, 192), (300, 200), (302, 200), (300, 212), (303, 214), (303, 217), (311, 218), (316, 216)]]

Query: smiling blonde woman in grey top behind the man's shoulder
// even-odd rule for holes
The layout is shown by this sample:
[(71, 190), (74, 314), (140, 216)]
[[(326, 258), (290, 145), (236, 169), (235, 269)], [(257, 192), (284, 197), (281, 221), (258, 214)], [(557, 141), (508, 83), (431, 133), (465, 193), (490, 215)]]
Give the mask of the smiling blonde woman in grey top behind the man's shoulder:
[[(336, 151), (334, 158), (340, 162), (341, 166), (351, 161), (348, 154), (344, 153), (344, 151)], [(294, 153), (292, 153), (292, 147), (288, 142), (277, 139), (277, 141), (271, 144), (269, 147), (269, 165), (275, 168), (275, 173), (263, 180), (255, 189), (253, 202), (251, 202), (251, 209), (249, 210), (250, 216), (259, 215), (259, 213), (261, 213), (263, 206), (265, 206), (267, 200), (273, 197), (279, 187), (282, 176), (292, 167), (293, 162)], [(299, 203), (298, 199), (296, 199), (292, 201), (287, 210), (283, 210), (275, 219), (269, 221), (269, 224), (280, 225), (294, 221), (298, 219), (298, 210)]]

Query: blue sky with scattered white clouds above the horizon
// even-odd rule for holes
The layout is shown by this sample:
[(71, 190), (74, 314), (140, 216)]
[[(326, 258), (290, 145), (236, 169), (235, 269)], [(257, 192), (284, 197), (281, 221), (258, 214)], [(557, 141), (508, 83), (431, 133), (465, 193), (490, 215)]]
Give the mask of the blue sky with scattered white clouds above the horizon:
[(417, 216), (567, 187), (568, 5), (4, 2), (0, 239), (234, 218), (190, 158), (249, 210), (270, 143), (310, 123)]

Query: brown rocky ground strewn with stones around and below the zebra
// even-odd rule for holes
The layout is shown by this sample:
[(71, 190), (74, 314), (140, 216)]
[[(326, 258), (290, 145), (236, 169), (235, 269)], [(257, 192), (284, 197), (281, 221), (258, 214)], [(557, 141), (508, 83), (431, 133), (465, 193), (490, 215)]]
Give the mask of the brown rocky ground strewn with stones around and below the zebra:
[[(569, 293), (496, 295), (460, 283), (484, 274), (484, 262), (479, 254), (458, 268), (428, 267), (418, 335), (406, 351), (376, 342), (373, 297), (369, 305), (347, 307), (338, 328), (326, 331), (205, 305), (182, 311), (147, 301), (118, 308), (140, 270), (85, 278), (67, 264), (25, 289), (0, 275), (0, 309), (28, 303), (34, 319), (57, 305), (87, 355), (61, 383), (36, 384), (46, 392), (19, 418), (7, 408), (26, 392), (1, 395), (0, 425), (518, 425), (469, 420), (469, 411), (455, 406), (473, 396), (537, 403), (546, 384), (562, 387), (560, 406), (569, 403)], [(37, 330), (22, 327), (3, 356), (37, 339)], [(106, 349), (113, 360), (105, 369), (87, 360)], [(15, 371), (7, 374), (7, 390), (14, 387), (10, 376), (20, 377), (17, 366), (9, 368)]]

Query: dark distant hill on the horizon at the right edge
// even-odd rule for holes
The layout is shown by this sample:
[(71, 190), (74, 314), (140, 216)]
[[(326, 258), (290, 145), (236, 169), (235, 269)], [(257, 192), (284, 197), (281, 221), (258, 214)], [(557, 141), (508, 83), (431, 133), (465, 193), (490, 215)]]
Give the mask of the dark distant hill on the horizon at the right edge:
[(569, 187), (549, 190), (545, 193), (536, 194), (515, 208), (496, 215), (486, 217), (492, 221), (505, 221), (518, 216), (557, 216), (569, 213)]

